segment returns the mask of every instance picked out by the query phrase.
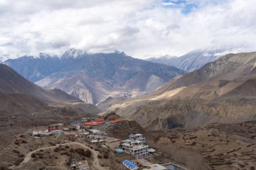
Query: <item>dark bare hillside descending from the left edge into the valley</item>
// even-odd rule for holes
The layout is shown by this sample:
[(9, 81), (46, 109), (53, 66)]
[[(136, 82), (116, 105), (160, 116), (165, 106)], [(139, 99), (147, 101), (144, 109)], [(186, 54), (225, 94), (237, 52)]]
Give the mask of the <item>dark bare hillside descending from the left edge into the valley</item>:
[[(0, 92), (31, 95), (46, 103), (79, 102), (77, 97), (58, 89), (45, 90), (28, 81), (7, 65), (0, 64)], [(14, 96), (14, 95), (13, 95)], [(32, 98), (30, 97), (30, 99)], [(37, 102), (38, 103), (38, 102)]]

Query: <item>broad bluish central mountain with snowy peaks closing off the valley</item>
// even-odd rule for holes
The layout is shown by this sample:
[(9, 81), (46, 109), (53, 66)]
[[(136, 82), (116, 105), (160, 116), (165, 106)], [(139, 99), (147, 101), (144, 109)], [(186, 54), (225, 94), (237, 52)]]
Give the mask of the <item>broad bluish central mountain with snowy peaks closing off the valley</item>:
[(4, 62), (30, 81), (61, 89), (86, 103), (107, 97), (149, 93), (185, 71), (127, 56), (123, 52), (87, 54), (71, 49), (57, 56), (40, 53)]

